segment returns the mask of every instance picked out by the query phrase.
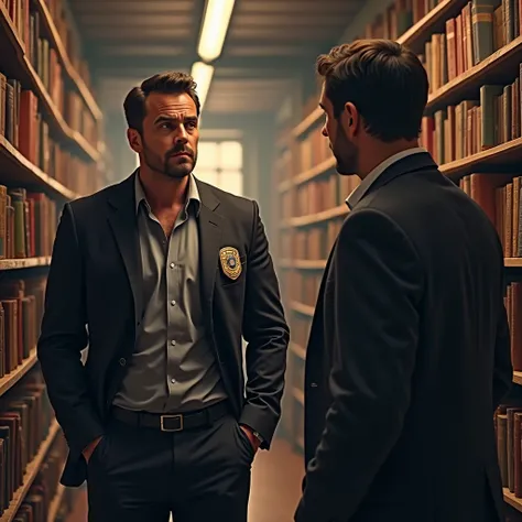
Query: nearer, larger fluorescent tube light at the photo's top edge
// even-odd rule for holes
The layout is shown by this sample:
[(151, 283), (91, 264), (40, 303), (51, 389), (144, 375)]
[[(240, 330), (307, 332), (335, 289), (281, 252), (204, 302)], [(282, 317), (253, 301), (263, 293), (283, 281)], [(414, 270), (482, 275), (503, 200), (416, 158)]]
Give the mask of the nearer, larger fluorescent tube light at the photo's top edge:
[(222, 50), (235, 0), (207, 0), (197, 53), (205, 62), (216, 59)]

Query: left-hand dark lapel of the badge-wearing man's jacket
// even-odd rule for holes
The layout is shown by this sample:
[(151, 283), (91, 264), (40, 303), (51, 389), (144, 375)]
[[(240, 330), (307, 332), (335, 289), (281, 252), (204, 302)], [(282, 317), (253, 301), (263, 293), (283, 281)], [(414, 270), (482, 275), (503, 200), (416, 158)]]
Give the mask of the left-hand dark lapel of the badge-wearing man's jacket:
[(141, 250), (134, 193), (137, 172), (113, 187), (109, 197), (108, 216), (134, 297), (134, 324), (141, 320), (143, 314)]

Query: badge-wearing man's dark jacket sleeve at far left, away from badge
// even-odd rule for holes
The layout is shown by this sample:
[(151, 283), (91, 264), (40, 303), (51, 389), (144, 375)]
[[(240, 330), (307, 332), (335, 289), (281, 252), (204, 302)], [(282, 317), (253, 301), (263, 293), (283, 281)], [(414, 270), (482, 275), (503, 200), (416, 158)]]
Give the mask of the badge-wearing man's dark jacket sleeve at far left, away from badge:
[(53, 247), (37, 356), (56, 418), (75, 456), (102, 434), (80, 359), (87, 346), (84, 284), (73, 210), (66, 204)]

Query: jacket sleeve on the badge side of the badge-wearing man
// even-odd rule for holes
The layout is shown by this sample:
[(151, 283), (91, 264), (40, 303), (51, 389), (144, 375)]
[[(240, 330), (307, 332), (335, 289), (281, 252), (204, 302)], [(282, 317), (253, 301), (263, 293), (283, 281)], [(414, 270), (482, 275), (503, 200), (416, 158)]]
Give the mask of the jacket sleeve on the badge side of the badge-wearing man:
[(263, 439), (261, 447), (268, 449), (281, 416), (290, 330), (255, 202), (242, 331), (248, 342), (247, 401), (239, 422), (258, 432)]

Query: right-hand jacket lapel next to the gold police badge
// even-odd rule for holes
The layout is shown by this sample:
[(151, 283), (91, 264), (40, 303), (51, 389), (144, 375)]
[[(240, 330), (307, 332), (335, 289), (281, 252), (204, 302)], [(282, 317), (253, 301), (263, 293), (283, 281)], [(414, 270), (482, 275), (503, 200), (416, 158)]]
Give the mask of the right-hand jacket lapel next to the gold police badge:
[(219, 249), (221, 247), (222, 217), (216, 213), (219, 199), (210, 186), (196, 180), (197, 189), (202, 199), (198, 219), (199, 233), (199, 267), (202, 275), (202, 298), (207, 317), (211, 319), (214, 286), (218, 268)]

